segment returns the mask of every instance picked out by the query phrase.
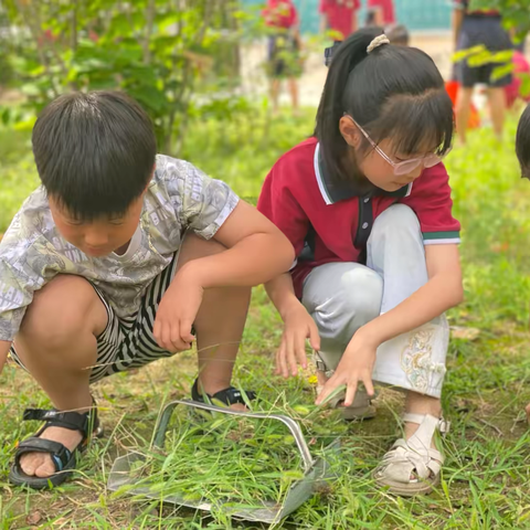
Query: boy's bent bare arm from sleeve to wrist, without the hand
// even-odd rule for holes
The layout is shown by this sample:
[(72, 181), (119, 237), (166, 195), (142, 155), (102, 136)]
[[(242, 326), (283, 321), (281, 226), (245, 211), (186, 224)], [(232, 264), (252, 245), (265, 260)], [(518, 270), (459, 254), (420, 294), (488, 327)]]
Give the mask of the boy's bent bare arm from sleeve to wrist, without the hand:
[(240, 201), (213, 236), (227, 250), (186, 264), (179, 272), (203, 288), (254, 286), (289, 269), (295, 251), (255, 208)]

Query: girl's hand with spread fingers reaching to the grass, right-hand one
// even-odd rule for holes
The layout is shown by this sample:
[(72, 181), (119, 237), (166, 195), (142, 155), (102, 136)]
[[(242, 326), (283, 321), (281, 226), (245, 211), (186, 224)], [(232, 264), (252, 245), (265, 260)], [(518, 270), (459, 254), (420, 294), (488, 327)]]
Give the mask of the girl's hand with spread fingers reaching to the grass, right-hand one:
[(359, 381), (364, 383), (368, 395), (373, 395), (372, 370), (377, 349), (378, 344), (365, 339), (362, 331), (358, 330), (315, 403), (320, 405), (335, 389), (346, 384), (344, 406), (350, 406), (356, 398)]

